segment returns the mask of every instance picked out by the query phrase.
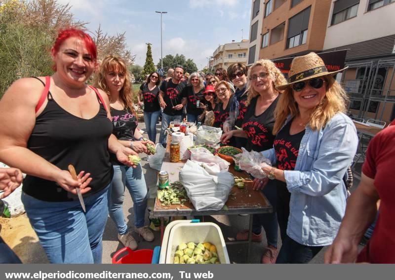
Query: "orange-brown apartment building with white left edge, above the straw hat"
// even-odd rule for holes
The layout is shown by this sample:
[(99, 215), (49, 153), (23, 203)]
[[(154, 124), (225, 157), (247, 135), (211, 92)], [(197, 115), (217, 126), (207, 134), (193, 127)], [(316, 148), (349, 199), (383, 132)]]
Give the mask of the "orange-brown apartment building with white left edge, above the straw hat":
[(253, 0), (248, 65), (322, 51), (331, 2)]

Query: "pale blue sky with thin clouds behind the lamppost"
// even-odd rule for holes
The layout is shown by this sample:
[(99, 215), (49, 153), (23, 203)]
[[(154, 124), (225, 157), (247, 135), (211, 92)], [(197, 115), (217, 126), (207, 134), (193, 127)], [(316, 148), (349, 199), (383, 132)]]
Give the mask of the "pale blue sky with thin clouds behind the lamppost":
[[(110, 35), (126, 31), (136, 64), (144, 65), (147, 45), (152, 43), (154, 63), (160, 58), (160, 14), (163, 56), (176, 53), (192, 58), (198, 69), (207, 65), (219, 44), (249, 37), (250, 0), (58, 0), (72, 5), (75, 18), (99, 24)], [(243, 29), (243, 32), (241, 32)]]

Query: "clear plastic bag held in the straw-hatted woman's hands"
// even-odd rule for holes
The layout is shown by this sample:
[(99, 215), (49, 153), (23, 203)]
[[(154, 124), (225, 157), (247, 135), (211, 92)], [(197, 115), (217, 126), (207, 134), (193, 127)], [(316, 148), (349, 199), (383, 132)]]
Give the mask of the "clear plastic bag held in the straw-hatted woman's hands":
[(244, 148), (241, 148), (241, 150), (243, 151), (241, 154), (234, 156), (240, 169), (251, 174), (255, 178), (266, 178), (267, 175), (263, 172), (262, 167), (268, 165), (272, 166), (270, 160), (265, 158), (261, 153), (255, 151), (248, 152)]

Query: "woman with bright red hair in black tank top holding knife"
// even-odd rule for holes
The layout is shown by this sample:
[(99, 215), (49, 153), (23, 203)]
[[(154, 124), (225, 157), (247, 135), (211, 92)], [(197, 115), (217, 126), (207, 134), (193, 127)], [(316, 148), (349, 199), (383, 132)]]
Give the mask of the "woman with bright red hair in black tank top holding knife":
[(0, 161), (27, 174), (22, 202), (48, 260), (101, 263), (110, 152), (129, 166), (136, 153), (112, 135), (107, 94), (85, 84), (97, 57), (89, 35), (60, 31), (51, 55), (52, 76), (16, 80), (0, 101)]

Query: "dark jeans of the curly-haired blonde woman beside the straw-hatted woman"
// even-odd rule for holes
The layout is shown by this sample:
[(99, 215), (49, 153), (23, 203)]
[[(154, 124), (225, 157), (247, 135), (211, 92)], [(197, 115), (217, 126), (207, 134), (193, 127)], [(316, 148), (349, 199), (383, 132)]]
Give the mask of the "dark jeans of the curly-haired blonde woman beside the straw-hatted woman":
[(252, 232), (260, 234), (262, 227), (265, 230), (268, 245), (277, 248), (278, 225), (276, 214), (276, 182), (269, 180), (267, 186), (263, 189), (263, 194), (273, 206), (272, 213), (254, 214), (252, 216)]

